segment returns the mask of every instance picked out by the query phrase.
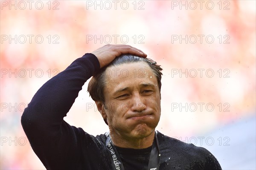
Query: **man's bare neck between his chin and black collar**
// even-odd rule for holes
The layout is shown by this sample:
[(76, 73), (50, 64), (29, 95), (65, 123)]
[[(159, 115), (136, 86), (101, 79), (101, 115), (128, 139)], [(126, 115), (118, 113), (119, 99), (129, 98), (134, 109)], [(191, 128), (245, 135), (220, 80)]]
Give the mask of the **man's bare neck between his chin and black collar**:
[(132, 149), (144, 149), (150, 147), (154, 141), (154, 134), (155, 131), (146, 137), (130, 137), (110, 131), (111, 140), (115, 146)]

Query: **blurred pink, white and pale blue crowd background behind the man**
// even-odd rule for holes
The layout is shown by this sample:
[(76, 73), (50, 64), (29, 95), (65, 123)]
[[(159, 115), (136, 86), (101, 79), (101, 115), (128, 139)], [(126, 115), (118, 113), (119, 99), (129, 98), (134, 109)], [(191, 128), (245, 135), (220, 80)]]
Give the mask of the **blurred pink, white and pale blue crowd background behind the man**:
[[(256, 1), (5, 1), (0, 11), (0, 169), (45, 169), (20, 117), (73, 60), (128, 44), (162, 65), (157, 130), (206, 147), (223, 169), (256, 169)], [(79, 92), (70, 125), (108, 131)]]

